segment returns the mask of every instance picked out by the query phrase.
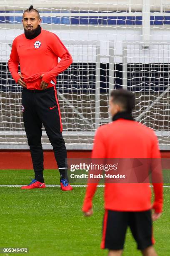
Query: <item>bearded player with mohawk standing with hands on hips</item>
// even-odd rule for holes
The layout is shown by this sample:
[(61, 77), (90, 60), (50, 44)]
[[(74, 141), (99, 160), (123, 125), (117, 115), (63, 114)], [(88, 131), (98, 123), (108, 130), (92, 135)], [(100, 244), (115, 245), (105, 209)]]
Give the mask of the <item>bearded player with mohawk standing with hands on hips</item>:
[[(60, 187), (72, 190), (67, 178), (67, 151), (55, 87), (56, 76), (70, 66), (72, 57), (54, 33), (41, 28), (40, 22), (40, 14), (31, 5), (23, 13), (24, 33), (14, 39), (8, 62), (13, 79), (23, 86), (23, 121), (35, 172), (35, 179), (22, 189), (45, 188), (41, 144), (43, 124), (60, 171)], [(19, 64), (21, 74), (18, 73)]]

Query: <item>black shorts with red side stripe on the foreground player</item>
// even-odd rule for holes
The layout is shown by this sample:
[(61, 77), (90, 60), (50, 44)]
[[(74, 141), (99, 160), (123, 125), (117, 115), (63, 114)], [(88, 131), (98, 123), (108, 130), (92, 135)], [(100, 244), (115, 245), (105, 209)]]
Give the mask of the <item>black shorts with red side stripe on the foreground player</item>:
[(101, 248), (122, 250), (128, 227), (130, 227), (139, 250), (144, 250), (154, 244), (150, 210), (142, 212), (105, 210)]

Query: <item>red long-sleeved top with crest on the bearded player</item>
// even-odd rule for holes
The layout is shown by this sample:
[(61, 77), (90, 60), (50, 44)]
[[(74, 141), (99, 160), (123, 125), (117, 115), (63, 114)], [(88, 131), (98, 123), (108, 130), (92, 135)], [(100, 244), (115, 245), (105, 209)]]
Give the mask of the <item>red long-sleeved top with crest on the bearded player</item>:
[[(58, 57), (61, 59), (60, 62)], [(17, 82), (20, 78), (20, 64), (27, 89), (40, 90), (42, 80), (48, 83), (47, 88), (54, 86), (55, 77), (71, 63), (72, 57), (60, 39), (54, 33), (41, 29), (40, 35), (34, 39), (27, 39), (25, 34), (14, 39), (8, 66), (13, 79)], [(45, 75), (40, 78), (41, 74)]]

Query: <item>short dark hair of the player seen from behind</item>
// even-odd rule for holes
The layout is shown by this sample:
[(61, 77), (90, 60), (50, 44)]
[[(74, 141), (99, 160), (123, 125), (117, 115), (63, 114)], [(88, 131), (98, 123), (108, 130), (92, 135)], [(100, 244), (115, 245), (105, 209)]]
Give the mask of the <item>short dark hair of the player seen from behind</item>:
[(113, 90), (110, 96), (113, 97), (112, 102), (120, 104), (125, 111), (132, 113), (135, 107), (135, 98), (131, 92), (123, 89)]

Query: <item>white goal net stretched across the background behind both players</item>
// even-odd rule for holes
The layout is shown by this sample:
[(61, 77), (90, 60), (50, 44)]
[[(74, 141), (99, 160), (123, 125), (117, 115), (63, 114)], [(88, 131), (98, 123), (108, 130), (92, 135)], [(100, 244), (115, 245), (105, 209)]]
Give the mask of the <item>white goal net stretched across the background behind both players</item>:
[[(73, 63), (57, 77), (67, 149), (91, 149), (95, 130), (110, 122), (111, 90), (134, 93), (136, 120), (170, 149), (170, 4), (165, 0), (7, 0), (0, 3), (0, 149), (28, 148), (22, 88), (8, 70), (23, 11), (34, 6), (43, 29), (60, 37)], [(43, 56), (42, 56), (43, 57)], [(43, 129), (43, 148), (51, 145)]]

